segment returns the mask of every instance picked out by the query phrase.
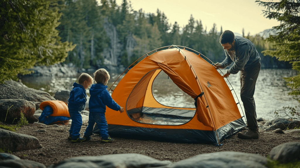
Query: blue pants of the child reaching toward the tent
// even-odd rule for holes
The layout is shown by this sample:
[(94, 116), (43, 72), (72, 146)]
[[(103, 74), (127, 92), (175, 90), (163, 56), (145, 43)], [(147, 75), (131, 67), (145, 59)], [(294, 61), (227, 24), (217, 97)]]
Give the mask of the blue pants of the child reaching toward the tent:
[(101, 113), (101, 112), (96, 113), (91, 111), (90, 114), (88, 115), (88, 126), (85, 129), (84, 137), (89, 137), (93, 135), (95, 122), (98, 125), (101, 137), (106, 138), (108, 136), (108, 131), (107, 131), (108, 125), (105, 118), (105, 113)]

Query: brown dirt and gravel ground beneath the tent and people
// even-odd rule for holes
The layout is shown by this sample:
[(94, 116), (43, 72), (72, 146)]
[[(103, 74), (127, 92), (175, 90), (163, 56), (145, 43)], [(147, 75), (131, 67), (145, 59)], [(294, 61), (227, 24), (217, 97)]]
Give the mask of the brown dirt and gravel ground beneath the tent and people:
[[(87, 125), (82, 125), (80, 134), (83, 136)], [(237, 134), (221, 142), (223, 145), (204, 143), (171, 143), (152, 140), (134, 140), (114, 138), (113, 143), (101, 143), (97, 134), (86, 142), (71, 143), (67, 140), (70, 125), (60, 127), (23, 126), (17, 133), (28, 134), (38, 138), (43, 148), (12, 152), (21, 159), (36, 161), (49, 166), (64, 159), (78, 156), (100, 156), (119, 153), (138, 153), (158, 160), (181, 161), (199, 154), (235, 151), (267, 156), (272, 148), (287, 142), (299, 142), (299, 134), (277, 134), (259, 131), (259, 139), (242, 140)], [(45, 132), (37, 132), (44, 129)]]

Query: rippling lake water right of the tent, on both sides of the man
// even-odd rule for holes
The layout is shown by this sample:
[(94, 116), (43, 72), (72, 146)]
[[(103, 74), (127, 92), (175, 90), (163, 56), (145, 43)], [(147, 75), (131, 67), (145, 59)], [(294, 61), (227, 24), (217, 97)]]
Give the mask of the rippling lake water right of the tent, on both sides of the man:
[[(288, 95), (292, 90), (286, 86), (284, 77), (291, 77), (297, 75), (297, 71), (292, 69), (261, 69), (256, 81), (254, 100), (256, 105), (257, 117), (265, 119), (273, 119), (274, 111), (282, 107), (295, 107), (299, 105), (295, 96)], [(243, 102), (240, 98), (240, 80), (239, 73), (229, 75), (229, 82), (231, 83), (235, 93), (240, 100), (241, 106), (238, 106), (240, 112), (244, 111)], [(228, 81), (226, 80), (227, 84)], [(230, 85), (229, 85), (229, 88)], [(234, 94), (235, 100), (236, 96)]]

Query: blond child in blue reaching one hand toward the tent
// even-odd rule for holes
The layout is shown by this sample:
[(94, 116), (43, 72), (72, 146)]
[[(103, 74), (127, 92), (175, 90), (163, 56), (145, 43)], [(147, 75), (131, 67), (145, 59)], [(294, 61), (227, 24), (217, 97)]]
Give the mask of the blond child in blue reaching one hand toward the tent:
[(93, 84), (90, 88), (90, 99), (88, 102), (89, 116), (88, 116), (88, 127), (86, 127), (84, 132), (84, 138), (86, 140), (91, 139), (93, 134), (93, 128), (96, 124), (99, 127), (101, 142), (113, 142), (115, 141), (108, 135), (108, 125), (105, 118), (106, 106), (123, 113), (124, 108), (120, 107), (110, 96), (110, 93), (107, 90), (107, 83), (110, 80), (110, 75), (107, 70), (101, 68), (94, 73), (96, 84)]

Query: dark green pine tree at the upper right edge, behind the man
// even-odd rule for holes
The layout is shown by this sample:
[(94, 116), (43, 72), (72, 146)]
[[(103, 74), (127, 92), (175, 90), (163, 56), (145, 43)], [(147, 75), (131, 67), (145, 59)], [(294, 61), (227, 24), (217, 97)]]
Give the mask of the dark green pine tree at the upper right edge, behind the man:
[[(277, 19), (280, 25), (274, 29), (280, 30), (275, 36), (267, 38), (273, 43), (276, 50), (265, 50), (264, 55), (276, 57), (278, 60), (290, 61), (292, 69), (300, 72), (300, 0), (280, 0), (279, 2), (255, 1), (263, 10), (264, 16), (269, 19)], [(285, 78), (293, 90), (291, 95), (300, 95), (300, 74)]]

